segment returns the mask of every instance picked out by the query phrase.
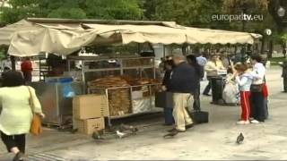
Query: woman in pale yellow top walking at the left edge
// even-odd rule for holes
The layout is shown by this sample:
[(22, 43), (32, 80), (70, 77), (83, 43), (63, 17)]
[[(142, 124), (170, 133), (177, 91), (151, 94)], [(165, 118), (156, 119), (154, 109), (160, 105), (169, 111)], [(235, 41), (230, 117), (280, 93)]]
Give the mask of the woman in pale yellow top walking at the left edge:
[[(4, 72), (3, 87), (0, 88), (0, 133), (8, 152), (15, 154), (13, 160), (23, 160), (25, 136), (35, 130), (36, 114), (44, 117), (35, 89), (24, 86), (21, 72)], [(33, 126), (33, 127), (31, 127)], [(40, 127), (40, 123), (38, 124)], [(39, 132), (40, 129), (38, 128)]]

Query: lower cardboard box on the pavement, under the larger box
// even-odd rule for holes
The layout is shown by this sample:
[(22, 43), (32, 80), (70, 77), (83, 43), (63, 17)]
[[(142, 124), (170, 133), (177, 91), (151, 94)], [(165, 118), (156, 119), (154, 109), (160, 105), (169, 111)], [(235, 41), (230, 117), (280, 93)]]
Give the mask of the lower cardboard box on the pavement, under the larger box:
[(78, 129), (80, 133), (91, 135), (94, 131), (105, 129), (105, 119), (103, 117), (86, 120), (75, 119), (74, 129)]

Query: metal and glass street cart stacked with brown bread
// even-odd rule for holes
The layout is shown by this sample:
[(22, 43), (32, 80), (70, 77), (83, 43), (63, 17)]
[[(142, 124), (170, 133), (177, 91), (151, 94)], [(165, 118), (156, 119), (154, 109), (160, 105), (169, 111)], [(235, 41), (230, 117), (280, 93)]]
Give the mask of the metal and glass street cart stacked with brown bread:
[[(82, 69), (75, 68), (77, 63)], [(88, 94), (106, 96), (109, 124), (111, 119), (159, 112), (153, 105), (155, 91), (161, 87), (155, 80), (154, 57), (68, 56), (67, 64), (67, 73), (80, 75)]]

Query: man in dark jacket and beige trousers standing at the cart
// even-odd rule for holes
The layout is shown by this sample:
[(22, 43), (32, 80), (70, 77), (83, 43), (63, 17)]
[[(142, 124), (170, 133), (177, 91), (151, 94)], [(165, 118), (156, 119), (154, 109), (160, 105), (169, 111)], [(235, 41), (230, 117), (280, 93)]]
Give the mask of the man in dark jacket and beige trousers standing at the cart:
[(170, 76), (170, 92), (173, 93), (173, 117), (176, 128), (170, 131), (170, 136), (193, 127), (193, 121), (187, 113), (188, 101), (196, 91), (196, 70), (186, 62), (184, 55), (173, 55), (175, 68)]

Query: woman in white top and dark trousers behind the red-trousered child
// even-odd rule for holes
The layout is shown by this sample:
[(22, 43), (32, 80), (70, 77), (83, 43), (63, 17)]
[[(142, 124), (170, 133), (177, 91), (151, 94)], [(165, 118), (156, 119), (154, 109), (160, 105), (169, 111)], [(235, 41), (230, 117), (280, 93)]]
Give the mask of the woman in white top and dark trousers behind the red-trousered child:
[(260, 123), (265, 121), (265, 66), (262, 64), (262, 57), (260, 55), (251, 56), (251, 64), (253, 76), (251, 91), (251, 123)]

